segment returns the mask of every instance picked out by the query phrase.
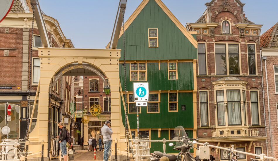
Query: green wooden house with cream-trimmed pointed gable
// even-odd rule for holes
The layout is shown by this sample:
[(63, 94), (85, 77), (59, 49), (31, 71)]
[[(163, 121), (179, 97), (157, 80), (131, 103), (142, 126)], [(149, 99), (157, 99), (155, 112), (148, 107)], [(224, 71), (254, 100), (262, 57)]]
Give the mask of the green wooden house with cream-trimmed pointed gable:
[[(140, 138), (172, 139), (174, 128), (183, 126), (196, 137), (196, 33), (188, 32), (161, 0), (143, 0), (125, 23), (128, 120), (137, 136), (133, 83), (149, 83), (149, 102), (139, 109)], [(124, 91), (123, 30), (117, 45), (121, 50), (120, 80)], [(125, 94), (125, 93), (123, 93)], [(121, 102), (124, 124), (124, 107)], [(166, 146), (167, 153), (175, 153)], [(162, 151), (151, 143), (151, 152)]]

